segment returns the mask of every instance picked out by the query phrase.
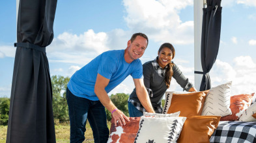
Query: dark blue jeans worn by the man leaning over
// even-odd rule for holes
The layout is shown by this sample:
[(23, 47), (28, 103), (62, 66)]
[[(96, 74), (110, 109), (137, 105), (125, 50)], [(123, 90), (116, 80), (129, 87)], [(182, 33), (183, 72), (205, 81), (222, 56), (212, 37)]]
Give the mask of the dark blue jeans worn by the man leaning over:
[(100, 101), (75, 96), (68, 88), (66, 88), (66, 100), (70, 118), (70, 142), (85, 140), (87, 118), (92, 128), (94, 142), (107, 142), (109, 129), (104, 105)]

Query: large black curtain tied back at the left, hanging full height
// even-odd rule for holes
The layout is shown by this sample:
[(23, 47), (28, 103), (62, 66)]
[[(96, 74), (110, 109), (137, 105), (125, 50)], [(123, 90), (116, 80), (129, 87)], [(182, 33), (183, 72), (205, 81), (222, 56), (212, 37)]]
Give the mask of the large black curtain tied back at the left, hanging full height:
[(20, 0), (7, 142), (56, 142), (46, 47), (57, 0)]

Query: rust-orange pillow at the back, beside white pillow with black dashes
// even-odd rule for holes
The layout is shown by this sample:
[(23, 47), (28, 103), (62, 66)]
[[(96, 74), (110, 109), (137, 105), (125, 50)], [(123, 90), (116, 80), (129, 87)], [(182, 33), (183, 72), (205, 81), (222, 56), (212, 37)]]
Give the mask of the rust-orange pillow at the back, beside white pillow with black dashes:
[(199, 116), (202, 113), (208, 91), (173, 94), (167, 114), (180, 111), (180, 116)]

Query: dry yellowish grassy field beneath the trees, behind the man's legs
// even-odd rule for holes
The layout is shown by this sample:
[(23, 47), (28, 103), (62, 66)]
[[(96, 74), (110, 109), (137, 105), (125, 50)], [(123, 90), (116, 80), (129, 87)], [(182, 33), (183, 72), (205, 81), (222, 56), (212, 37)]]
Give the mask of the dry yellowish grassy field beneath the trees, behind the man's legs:
[[(107, 126), (110, 128), (111, 123), (107, 122)], [(55, 124), (55, 135), (56, 135), (56, 142), (58, 143), (69, 142), (69, 137), (70, 137), (69, 124)], [(7, 138), (7, 126), (0, 126), (0, 143), (5, 143), (6, 138)], [(87, 122), (86, 124), (84, 142), (94, 142), (93, 136), (92, 136), (92, 129), (89, 125), (89, 122)]]

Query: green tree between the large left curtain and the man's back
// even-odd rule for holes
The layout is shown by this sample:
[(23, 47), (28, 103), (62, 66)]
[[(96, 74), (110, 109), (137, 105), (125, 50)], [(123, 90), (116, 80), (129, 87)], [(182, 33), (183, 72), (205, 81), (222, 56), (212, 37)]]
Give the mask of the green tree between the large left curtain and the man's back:
[(68, 104), (66, 102), (66, 86), (70, 78), (63, 76), (51, 76), (51, 85), (53, 88), (53, 117), (59, 119), (59, 122), (69, 120)]

